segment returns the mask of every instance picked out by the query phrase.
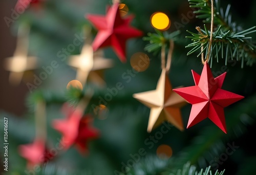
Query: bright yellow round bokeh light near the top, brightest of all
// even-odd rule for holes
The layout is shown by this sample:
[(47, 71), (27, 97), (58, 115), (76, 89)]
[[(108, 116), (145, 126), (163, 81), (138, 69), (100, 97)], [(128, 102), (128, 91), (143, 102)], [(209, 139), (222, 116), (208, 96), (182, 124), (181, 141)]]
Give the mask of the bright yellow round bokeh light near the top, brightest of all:
[(151, 15), (151, 25), (159, 30), (167, 30), (170, 27), (170, 19), (162, 12), (156, 12)]

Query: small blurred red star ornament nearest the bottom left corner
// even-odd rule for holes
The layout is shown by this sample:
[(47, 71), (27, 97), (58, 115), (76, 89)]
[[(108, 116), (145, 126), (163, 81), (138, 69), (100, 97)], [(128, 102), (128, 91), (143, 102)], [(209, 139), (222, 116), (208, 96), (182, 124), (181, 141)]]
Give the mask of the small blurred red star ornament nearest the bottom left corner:
[(54, 155), (46, 148), (45, 142), (40, 139), (36, 139), (30, 144), (19, 145), (18, 152), (20, 156), (27, 159), (28, 169), (33, 168), (35, 165), (48, 163), (54, 157)]

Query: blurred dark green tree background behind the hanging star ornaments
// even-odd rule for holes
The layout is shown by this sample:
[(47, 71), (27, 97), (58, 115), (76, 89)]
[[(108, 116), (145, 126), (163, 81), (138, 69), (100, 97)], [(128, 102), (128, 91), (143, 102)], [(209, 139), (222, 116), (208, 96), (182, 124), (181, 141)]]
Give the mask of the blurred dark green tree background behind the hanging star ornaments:
[[(54, 147), (61, 135), (51, 127), (53, 119), (62, 118), (60, 108), (67, 101), (67, 83), (75, 78), (75, 70), (69, 67), (66, 61), (60, 61), (58, 52), (67, 48), (73, 42), (75, 35), (80, 35), (83, 25), (90, 25), (84, 17), (88, 13), (105, 14), (106, 6), (111, 1), (88, 1), (88, 0), (49, 0), (42, 4), (39, 9), (30, 7), (25, 13), (20, 14), (10, 27), (5, 23), (4, 17), (10, 17), (15, 6), (15, 1), (1, 1), (1, 72), (0, 72), (0, 116), (1, 119), (9, 119), (9, 170), (4, 174), (26, 174), (26, 160), (18, 155), (17, 146), (33, 141), (35, 134), (33, 97), (38, 91), (42, 92), (47, 101), (47, 133), (49, 147)], [(201, 59), (193, 54), (187, 56), (189, 49), (185, 46), (190, 43), (186, 30), (196, 32), (195, 27), (203, 27), (203, 22), (197, 18), (188, 18), (191, 9), (187, 1), (123, 1), (129, 8), (129, 13), (135, 18), (132, 25), (143, 31), (144, 36), (148, 32), (155, 32), (150, 23), (150, 16), (160, 11), (168, 15), (172, 25), (168, 32), (180, 30), (179, 39), (175, 41), (172, 67), (169, 79), (173, 88), (177, 86), (194, 85), (191, 70), (201, 74)], [(221, 1), (225, 9), (231, 4), (232, 20), (243, 28), (256, 25), (255, 1)], [(29, 51), (31, 55), (39, 58), (39, 68), (34, 72), (26, 74), (23, 82), (18, 86), (12, 86), (8, 82), (9, 73), (3, 68), (5, 57), (12, 56), (16, 46), (17, 28), (21, 23), (31, 26), (29, 35)], [(94, 30), (93, 34), (96, 34)], [(255, 38), (255, 36), (252, 36)], [(256, 107), (256, 74), (255, 64), (245, 66), (241, 69), (240, 61), (230, 61), (226, 65), (227, 75), (223, 89), (245, 96), (245, 98), (225, 108), (227, 133), (224, 134), (210, 120), (204, 120), (199, 124), (180, 132), (172, 127), (167, 134), (157, 140), (152, 146), (148, 145), (147, 139), (159, 133), (160, 128), (152, 133), (146, 132), (148, 115), (150, 109), (132, 97), (132, 94), (154, 90), (161, 73), (160, 55), (153, 55), (144, 51), (147, 45), (142, 37), (133, 38), (127, 42), (127, 62), (122, 63), (111, 48), (104, 49), (104, 56), (113, 59), (115, 66), (104, 71), (105, 88), (95, 88), (95, 94), (87, 108), (87, 113), (92, 114), (94, 126), (100, 129), (100, 138), (89, 144), (90, 154), (82, 156), (77, 149), (72, 147), (66, 152), (61, 152), (46, 167), (46, 174), (115, 174), (121, 171), (124, 164), (131, 159), (131, 154), (137, 154), (140, 148), (144, 148), (147, 154), (141, 157), (136, 166), (131, 168), (131, 174), (162, 174), (172, 169), (180, 168), (186, 162), (195, 164), (198, 168), (211, 165), (218, 166), (219, 170), (225, 170), (225, 174), (254, 174), (256, 168), (256, 151), (253, 140), (255, 138), (255, 107)], [(79, 54), (82, 45), (76, 47), (71, 55)], [(130, 82), (122, 78), (122, 74), (132, 70), (130, 64), (131, 56), (136, 52), (144, 52), (150, 58), (150, 67), (131, 77)], [(30, 93), (26, 83), (33, 81), (33, 75), (39, 75), (42, 66), (50, 65), (52, 60), (57, 60), (59, 67), (44, 80), (33, 93)], [(68, 59), (67, 59), (68, 60)], [(215, 76), (220, 75), (225, 60), (212, 63), (212, 72)], [(32, 78), (31, 78), (32, 77)], [(122, 82), (124, 88), (118, 92), (113, 99), (106, 104), (107, 112), (104, 112), (104, 120), (93, 113), (93, 104), (99, 105), (99, 97), (104, 97), (117, 82)], [(182, 107), (182, 118), (184, 127), (187, 124), (191, 105)], [(161, 125), (162, 126), (162, 125)], [(1, 128), (3, 124), (1, 123)], [(1, 149), (3, 142), (3, 129), (1, 129)], [(157, 157), (156, 150), (167, 144), (173, 150), (172, 158), (169, 160)], [(239, 146), (222, 163), (217, 163), (215, 158), (221, 158), (228, 144)], [(224, 156), (225, 157), (225, 156)], [(3, 160), (3, 158), (2, 158)], [(1, 161), (3, 163), (3, 161)], [(211, 162), (211, 163), (210, 163)], [(3, 169), (1, 165), (0, 169)]]

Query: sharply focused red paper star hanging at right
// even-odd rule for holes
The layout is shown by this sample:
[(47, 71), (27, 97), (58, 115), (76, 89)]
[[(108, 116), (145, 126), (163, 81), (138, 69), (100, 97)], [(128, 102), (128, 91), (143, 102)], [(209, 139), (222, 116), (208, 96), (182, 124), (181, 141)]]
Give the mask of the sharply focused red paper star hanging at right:
[(207, 117), (227, 134), (224, 107), (244, 97), (221, 89), (226, 72), (214, 78), (206, 62), (201, 76), (192, 70), (195, 85), (174, 91), (192, 104), (187, 128)]

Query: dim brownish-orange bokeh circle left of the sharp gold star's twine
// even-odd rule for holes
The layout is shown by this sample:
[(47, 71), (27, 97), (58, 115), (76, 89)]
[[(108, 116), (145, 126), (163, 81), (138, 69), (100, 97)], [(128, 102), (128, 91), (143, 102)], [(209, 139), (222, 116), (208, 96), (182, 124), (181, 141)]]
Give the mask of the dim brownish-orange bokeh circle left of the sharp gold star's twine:
[(143, 52), (137, 52), (131, 56), (130, 63), (137, 72), (143, 72), (150, 66), (150, 58)]

